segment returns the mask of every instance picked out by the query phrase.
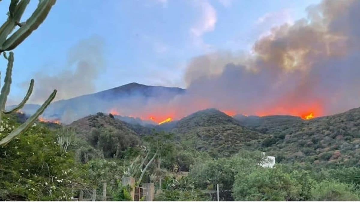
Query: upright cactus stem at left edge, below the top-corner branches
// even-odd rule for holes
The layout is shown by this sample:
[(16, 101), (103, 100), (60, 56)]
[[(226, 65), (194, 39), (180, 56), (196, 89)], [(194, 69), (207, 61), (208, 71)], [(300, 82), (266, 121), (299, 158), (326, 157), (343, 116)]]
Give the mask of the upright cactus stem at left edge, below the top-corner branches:
[[(10, 92), (10, 85), (11, 85), (11, 73), (13, 70), (14, 64), (14, 54), (10, 52), (9, 59), (8, 59), (8, 68), (6, 68), (6, 74), (4, 79), (4, 86), (1, 88), (1, 95), (0, 95), (0, 109), (3, 111), (5, 109), (6, 99), (8, 98)], [(0, 121), (1, 121), (1, 113), (0, 113)]]

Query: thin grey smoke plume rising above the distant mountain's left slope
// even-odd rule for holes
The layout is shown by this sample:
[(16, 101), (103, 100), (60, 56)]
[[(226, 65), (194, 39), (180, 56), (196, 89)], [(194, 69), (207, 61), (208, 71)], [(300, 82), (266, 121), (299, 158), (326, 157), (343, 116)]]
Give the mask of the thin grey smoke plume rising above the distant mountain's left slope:
[[(67, 64), (59, 73), (36, 73), (32, 103), (41, 104), (54, 89), (58, 90), (55, 100), (62, 100), (95, 91), (95, 79), (105, 68), (103, 41), (91, 37), (78, 42), (68, 52)], [(27, 87), (28, 83), (24, 86)]]

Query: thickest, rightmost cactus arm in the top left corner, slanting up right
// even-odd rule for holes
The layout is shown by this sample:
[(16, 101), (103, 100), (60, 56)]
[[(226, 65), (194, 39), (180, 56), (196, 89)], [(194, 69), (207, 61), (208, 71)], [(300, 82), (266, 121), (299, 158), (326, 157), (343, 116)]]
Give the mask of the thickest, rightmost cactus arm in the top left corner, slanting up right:
[(56, 0), (43, 0), (39, 2), (39, 5), (26, 20), (26, 23), (21, 26), (13, 35), (11, 35), (2, 45), (1, 50), (12, 50), (19, 45), (26, 37), (28, 37), (32, 31), (37, 29), (39, 25), (44, 21), (51, 7), (55, 4)]

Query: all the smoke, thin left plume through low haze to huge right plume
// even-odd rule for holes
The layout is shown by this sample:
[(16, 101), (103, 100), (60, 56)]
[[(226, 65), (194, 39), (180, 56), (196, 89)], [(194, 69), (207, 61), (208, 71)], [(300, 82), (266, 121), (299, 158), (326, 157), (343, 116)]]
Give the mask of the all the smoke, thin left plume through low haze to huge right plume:
[[(359, 10), (358, 0), (326, 0), (309, 7), (307, 18), (272, 28), (249, 53), (219, 51), (193, 58), (184, 77), (186, 93), (145, 96), (147, 91), (139, 90), (126, 99), (104, 100), (102, 96), (101, 101), (93, 99), (88, 105), (83, 104), (87, 99), (83, 97), (78, 105), (63, 106), (60, 101), (46, 112), (50, 116), (57, 113), (55, 109), (66, 111), (62, 113), (66, 122), (97, 111), (154, 117), (159, 122), (209, 107), (228, 114), (297, 116), (329, 115), (359, 107)], [(71, 51), (69, 64), (77, 63), (75, 72), (38, 76), (37, 82), (46, 86), (40, 91), (42, 99), (53, 88), (59, 89), (58, 99), (91, 91), (102, 66), (98, 45), (87, 40)]]

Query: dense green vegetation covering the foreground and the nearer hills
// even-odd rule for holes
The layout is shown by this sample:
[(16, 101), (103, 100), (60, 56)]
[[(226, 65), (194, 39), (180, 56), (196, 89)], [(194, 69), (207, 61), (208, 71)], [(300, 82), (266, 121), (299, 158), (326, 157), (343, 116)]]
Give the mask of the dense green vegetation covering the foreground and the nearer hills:
[[(134, 176), (139, 184), (154, 183), (155, 200), (216, 200), (217, 184), (221, 200), (359, 200), (360, 168), (358, 160), (354, 160), (356, 155), (345, 161), (347, 164), (333, 166), (338, 150), (335, 145), (328, 149), (331, 156), (317, 163), (309, 160), (309, 156), (321, 150), (309, 146), (312, 151), (303, 157), (291, 157), (297, 151), (291, 151), (291, 146), (285, 144), (285, 141), (299, 144), (304, 138), (296, 138), (304, 134), (303, 128), (317, 131), (326, 121), (331, 123), (331, 133), (333, 126), (353, 128), (359, 120), (358, 111), (350, 111), (354, 113), (350, 123), (342, 121), (344, 115), (349, 116), (347, 112), (306, 122), (281, 116), (261, 121), (256, 118), (257, 122), (252, 119), (252, 125), (247, 125), (244, 120), (236, 121), (210, 109), (178, 121), (170, 129), (172, 133), (157, 132), (156, 128), (148, 129), (147, 133), (135, 132), (133, 128), (139, 126), (103, 113), (69, 126), (36, 123), (25, 134), (0, 147), (0, 199), (71, 200), (78, 197), (79, 190), (90, 198), (95, 189), (97, 199), (101, 200), (102, 184), (106, 182), (108, 200), (127, 200), (129, 189), (122, 186), (121, 179)], [(19, 125), (23, 115), (4, 119), (1, 137)], [(286, 128), (283, 121), (298, 125), (300, 130), (289, 132), (297, 129)], [(267, 124), (271, 128), (264, 129)], [(231, 130), (234, 128), (238, 133)], [(319, 142), (323, 143), (328, 138), (321, 135)], [(316, 136), (320, 134), (311, 137)], [(357, 137), (350, 137), (334, 138), (329, 144), (338, 143), (341, 147), (356, 142)], [(272, 143), (271, 138), (276, 141)], [(305, 148), (290, 145), (295, 149), (306, 148), (306, 144), (302, 145)], [(279, 152), (284, 157), (277, 157), (274, 168), (264, 168), (259, 165), (265, 157), (262, 151)], [(340, 157), (346, 152), (356, 154), (356, 150), (340, 151)]]

